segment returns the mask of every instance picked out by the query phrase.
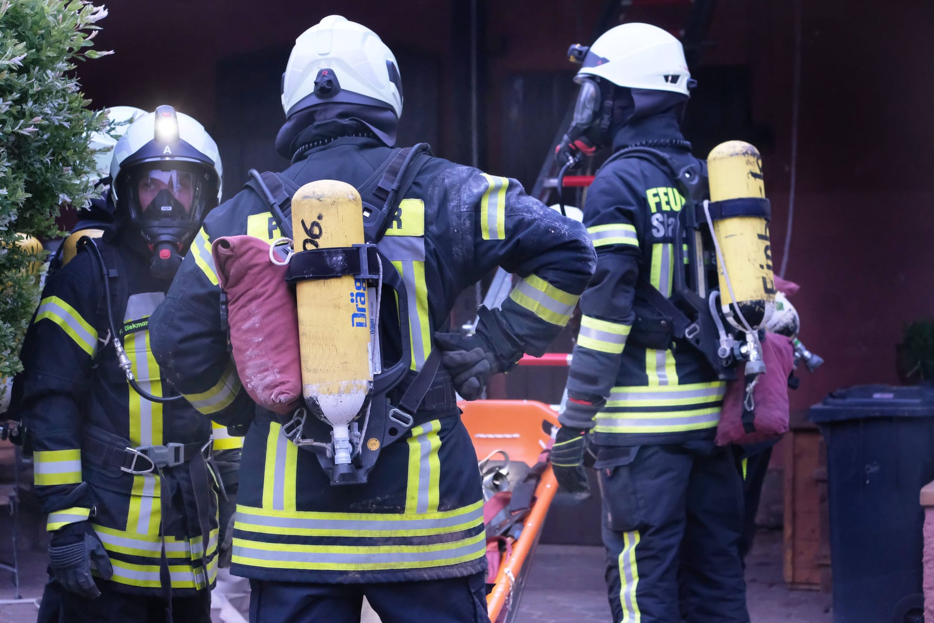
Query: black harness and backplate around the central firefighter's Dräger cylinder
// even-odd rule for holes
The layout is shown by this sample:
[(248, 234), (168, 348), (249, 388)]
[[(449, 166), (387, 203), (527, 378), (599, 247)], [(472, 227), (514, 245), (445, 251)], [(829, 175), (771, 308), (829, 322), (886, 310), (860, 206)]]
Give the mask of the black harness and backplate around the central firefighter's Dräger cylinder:
[[(402, 276), (376, 248), (389, 228), (399, 204), (408, 188), (412, 185), (420, 168), (428, 162), (430, 148), (420, 143), (412, 148), (393, 149), (389, 158), (382, 165), (382, 176), (375, 178), (361, 189), (363, 234), (365, 244), (346, 248), (308, 248), (296, 249), (288, 256), (285, 281), (300, 284), (309, 279), (329, 279), (341, 276), (353, 276), (355, 283), (368, 284), (377, 290), (383, 287), (394, 290), (396, 294), (397, 316), (400, 331), (401, 357), (389, 365), (381, 363), (378, 345), (372, 351), (372, 357), (378, 358), (373, 375), (372, 390), (368, 403), (363, 404), (361, 413), (365, 414), (362, 430), (356, 420), (349, 424), (349, 438), (338, 438), (332, 432), (330, 441), (308, 436), (311, 426), (306, 426), (307, 409), (300, 408), (287, 421), (283, 434), (296, 446), (313, 452), (322, 469), (331, 476), (333, 485), (362, 484), (375, 465), (384, 446), (401, 438), (415, 424), (414, 415), (419, 404), (432, 389), (432, 382), (438, 372), (440, 355), (436, 349), (426, 359), (417, 373), (410, 371), (412, 354), (409, 339), (408, 297)], [(287, 177), (276, 173), (249, 172), (252, 179), (247, 188), (255, 191), (269, 205), (279, 231), (292, 240), (290, 211), (292, 195), (299, 187)], [(274, 243), (274, 248), (276, 243)], [(283, 283), (283, 287), (286, 284)], [(372, 297), (366, 296), (369, 300)], [(378, 300), (378, 298), (377, 298)], [(364, 305), (367, 305), (364, 303)], [(379, 304), (376, 304), (378, 309)], [(372, 322), (372, 320), (371, 320)], [(379, 327), (373, 325), (378, 335)], [(298, 348), (298, 345), (295, 345)], [(234, 359), (236, 353), (234, 353)], [(238, 368), (240, 362), (237, 362)], [(391, 404), (389, 394), (398, 395), (404, 389), (402, 398)], [(307, 398), (306, 398), (307, 402)], [(310, 404), (309, 404), (310, 406)], [(363, 417), (363, 416), (361, 416)], [(323, 419), (323, 418), (322, 418)], [(327, 420), (324, 420), (327, 422)], [(327, 422), (330, 423), (330, 422)], [(320, 430), (321, 427), (318, 427)], [(336, 431), (337, 427), (334, 426)], [(365, 443), (364, 443), (365, 439)]]

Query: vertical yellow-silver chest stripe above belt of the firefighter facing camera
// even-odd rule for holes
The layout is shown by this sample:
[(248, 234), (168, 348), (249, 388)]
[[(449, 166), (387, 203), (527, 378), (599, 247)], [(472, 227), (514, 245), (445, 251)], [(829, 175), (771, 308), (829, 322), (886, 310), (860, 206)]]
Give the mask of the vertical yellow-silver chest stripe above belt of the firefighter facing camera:
[[(159, 364), (149, 349), (149, 330), (128, 333), (123, 348), (130, 358), (133, 375), (139, 387), (153, 396), (163, 395)], [(127, 382), (130, 407), (130, 442), (133, 446), (160, 446), (163, 443), (163, 404), (146, 400)]]

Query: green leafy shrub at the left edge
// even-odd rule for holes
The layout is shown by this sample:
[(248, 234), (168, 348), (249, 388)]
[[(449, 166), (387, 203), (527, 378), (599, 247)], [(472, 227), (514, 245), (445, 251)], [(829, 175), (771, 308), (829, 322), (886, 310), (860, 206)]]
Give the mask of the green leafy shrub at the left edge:
[(92, 50), (104, 17), (82, 0), (0, 0), (0, 378), (21, 368), (38, 299), (24, 269), (42, 258), (17, 247), (17, 234), (55, 236), (60, 206), (92, 195), (87, 133), (104, 117), (87, 108), (74, 69), (109, 53)]

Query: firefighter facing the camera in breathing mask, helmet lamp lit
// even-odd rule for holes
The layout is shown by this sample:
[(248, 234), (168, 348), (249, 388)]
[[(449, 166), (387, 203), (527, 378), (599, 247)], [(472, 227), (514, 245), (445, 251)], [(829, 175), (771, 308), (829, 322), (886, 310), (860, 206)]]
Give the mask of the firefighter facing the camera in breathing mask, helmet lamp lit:
[(160, 106), (120, 137), (110, 173), (115, 220), (50, 276), (17, 378), (51, 532), (43, 603), (61, 600), (60, 621), (206, 622), (211, 422), (165, 382), (148, 326), (219, 202), (219, 153), (200, 123)]

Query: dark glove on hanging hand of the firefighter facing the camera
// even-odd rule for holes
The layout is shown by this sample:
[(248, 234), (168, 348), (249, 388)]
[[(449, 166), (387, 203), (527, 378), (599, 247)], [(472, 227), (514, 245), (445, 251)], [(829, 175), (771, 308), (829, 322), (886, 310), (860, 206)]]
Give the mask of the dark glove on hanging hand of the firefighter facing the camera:
[(56, 582), (85, 599), (101, 595), (94, 584), (92, 569), (105, 580), (114, 573), (110, 558), (90, 521), (70, 523), (52, 532), (49, 569)]

